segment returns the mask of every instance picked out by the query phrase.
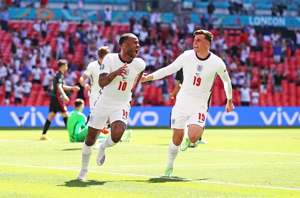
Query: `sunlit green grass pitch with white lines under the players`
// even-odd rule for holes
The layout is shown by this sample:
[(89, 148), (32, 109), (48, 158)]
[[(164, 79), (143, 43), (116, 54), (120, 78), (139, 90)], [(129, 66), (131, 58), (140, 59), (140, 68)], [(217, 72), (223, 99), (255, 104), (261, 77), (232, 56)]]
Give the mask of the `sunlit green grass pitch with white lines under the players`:
[(161, 178), (172, 131), (133, 129), (131, 143), (93, 150), (77, 181), (82, 143), (66, 130), (0, 130), (0, 198), (300, 198), (300, 129), (206, 129), (209, 144), (180, 151)]

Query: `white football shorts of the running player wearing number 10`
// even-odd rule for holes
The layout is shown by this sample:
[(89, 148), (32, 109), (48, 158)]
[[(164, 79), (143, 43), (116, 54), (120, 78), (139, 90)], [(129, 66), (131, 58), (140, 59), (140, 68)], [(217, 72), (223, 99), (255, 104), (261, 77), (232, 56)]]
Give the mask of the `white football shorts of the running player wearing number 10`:
[(93, 108), (87, 118), (87, 126), (95, 129), (103, 129), (106, 124), (107, 118), (109, 117), (110, 123), (120, 120), (126, 125), (128, 123), (130, 107), (123, 106), (119, 108)]

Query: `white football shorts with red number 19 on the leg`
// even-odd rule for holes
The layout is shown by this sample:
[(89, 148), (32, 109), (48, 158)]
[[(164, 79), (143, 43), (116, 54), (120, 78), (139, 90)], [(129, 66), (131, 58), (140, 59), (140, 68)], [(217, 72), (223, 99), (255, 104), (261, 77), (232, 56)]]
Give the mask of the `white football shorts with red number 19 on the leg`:
[(197, 124), (202, 128), (208, 113), (203, 108), (188, 108), (174, 106), (170, 115), (170, 129), (185, 129), (190, 124)]

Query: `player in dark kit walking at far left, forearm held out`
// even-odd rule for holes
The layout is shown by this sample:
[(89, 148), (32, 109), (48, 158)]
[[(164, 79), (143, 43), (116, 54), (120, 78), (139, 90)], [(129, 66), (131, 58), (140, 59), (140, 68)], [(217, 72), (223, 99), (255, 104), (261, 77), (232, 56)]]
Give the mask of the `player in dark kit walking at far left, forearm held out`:
[(68, 98), (64, 90), (75, 91), (75, 92), (78, 92), (80, 90), (78, 86), (64, 85), (64, 74), (67, 70), (68, 70), (67, 60), (62, 60), (62, 59), (59, 60), (58, 71), (55, 73), (55, 76), (53, 78), (53, 87), (50, 94), (50, 110), (40, 140), (51, 140), (50, 138), (46, 137), (45, 134), (48, 131), (50, 124), (55, 114), (58, 111), (60, 112), (60, 114), (62, 114), (64, 118), (64, 122), (67, 126), (68, 112), (65, 103), (68, 103), (70, 99)]

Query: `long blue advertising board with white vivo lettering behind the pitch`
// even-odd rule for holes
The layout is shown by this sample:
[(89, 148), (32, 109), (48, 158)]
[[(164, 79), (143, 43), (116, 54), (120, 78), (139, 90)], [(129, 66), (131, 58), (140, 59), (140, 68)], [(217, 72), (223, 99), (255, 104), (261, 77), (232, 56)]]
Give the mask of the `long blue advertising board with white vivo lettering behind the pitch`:
[[(74, 107), (68, 107), (72, 111)], [(128, 126), (167, 127), (171, 106), (133, 106)], [(47, 106), (0, 107), (0, 127), (42, 127), (49, 112)], [(83, 110), (89, 113), (89, 107)], [(56, 114), (51, 126), (65, 126), (62, 116)], [(206, 126), (300, 126), (299, 107), (235, 107), (226, 113), (225, 107), (211, 107)]]

